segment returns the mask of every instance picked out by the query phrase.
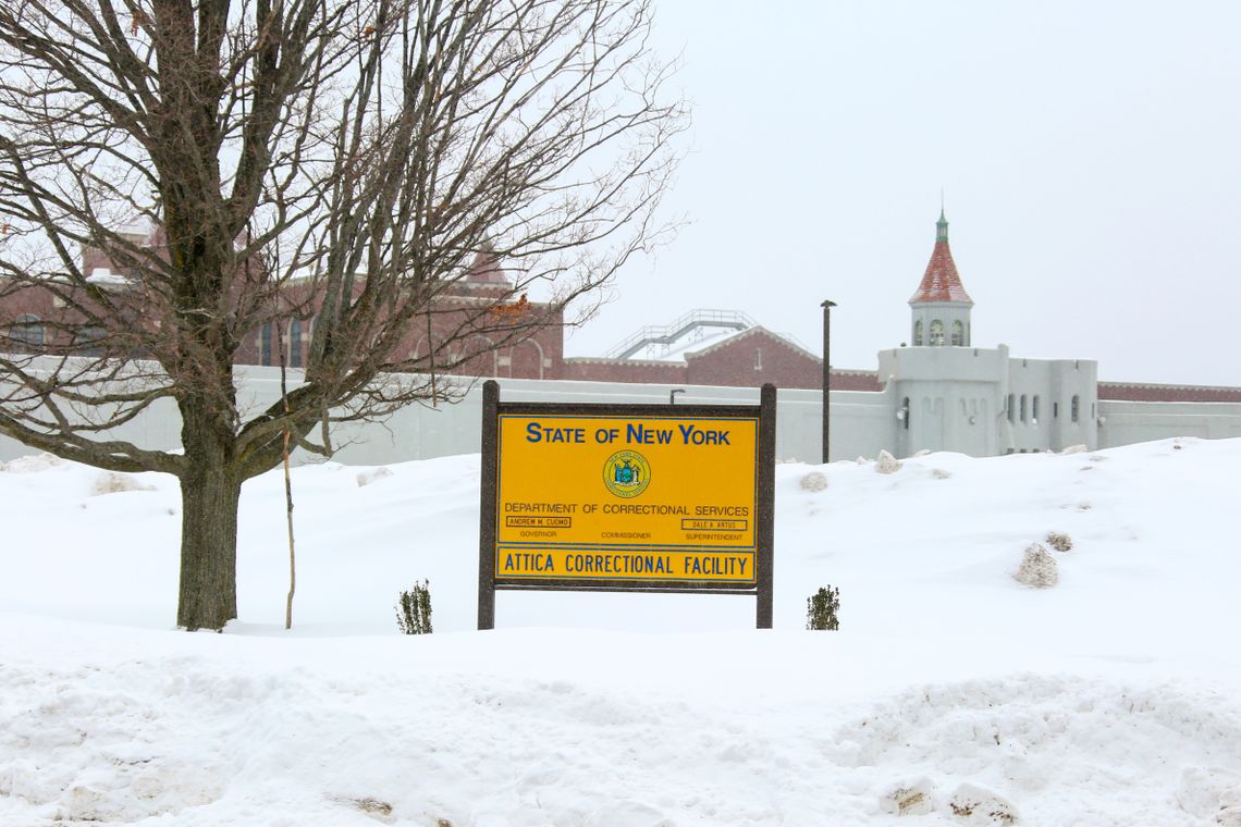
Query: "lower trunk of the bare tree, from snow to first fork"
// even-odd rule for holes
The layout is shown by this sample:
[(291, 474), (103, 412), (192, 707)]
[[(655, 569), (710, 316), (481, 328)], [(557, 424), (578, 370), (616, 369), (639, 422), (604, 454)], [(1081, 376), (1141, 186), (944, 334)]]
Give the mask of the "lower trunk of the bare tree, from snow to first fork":
[[(237, 506), (231, 444), (202, 414), (182, 409), (186, 471), (181, 476), (181, 591), (176, 624), (189, 631), (223, 629), (237, 616)], [(231, 440), (230, 440), (231, 441)]]

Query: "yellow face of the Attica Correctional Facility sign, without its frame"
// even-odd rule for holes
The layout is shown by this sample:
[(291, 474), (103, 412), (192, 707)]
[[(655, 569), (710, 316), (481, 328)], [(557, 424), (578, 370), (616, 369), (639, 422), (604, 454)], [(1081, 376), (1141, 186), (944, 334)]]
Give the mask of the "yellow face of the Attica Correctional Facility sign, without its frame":
[(755, 582), (758, 418), (501, 414), (498, 578)]

